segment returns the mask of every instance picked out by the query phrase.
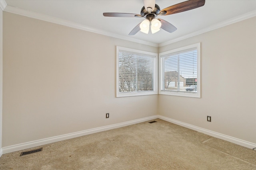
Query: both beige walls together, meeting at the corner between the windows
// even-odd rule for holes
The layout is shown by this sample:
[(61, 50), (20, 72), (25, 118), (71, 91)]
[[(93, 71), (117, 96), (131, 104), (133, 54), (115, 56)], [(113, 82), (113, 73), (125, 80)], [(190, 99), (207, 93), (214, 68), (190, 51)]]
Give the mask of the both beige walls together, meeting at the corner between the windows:
[[(256, 143), (255, 25), (156, 48), (4, 12), (2, 147), (157, 114)], [(161, 53), (198, 42), (202, 98), (115, 98), (116, 45)]]

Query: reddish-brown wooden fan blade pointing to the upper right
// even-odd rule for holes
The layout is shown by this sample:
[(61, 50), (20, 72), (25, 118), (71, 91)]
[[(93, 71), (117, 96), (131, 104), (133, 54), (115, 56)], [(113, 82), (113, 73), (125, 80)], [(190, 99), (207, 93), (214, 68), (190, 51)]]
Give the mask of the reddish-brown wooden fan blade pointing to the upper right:
[(170, 14), (176, 14), (188, 10), (192, 10), (201, 6), (204, 6), (205, 0), (188, 0), (185, 2), (181, 2), (179, 4), (175, 4), (172, 6), (169, 6), (167, 8), (164, 8), (163, 10), (160, 11), (166, 11), (165, 15), (170, 15)]

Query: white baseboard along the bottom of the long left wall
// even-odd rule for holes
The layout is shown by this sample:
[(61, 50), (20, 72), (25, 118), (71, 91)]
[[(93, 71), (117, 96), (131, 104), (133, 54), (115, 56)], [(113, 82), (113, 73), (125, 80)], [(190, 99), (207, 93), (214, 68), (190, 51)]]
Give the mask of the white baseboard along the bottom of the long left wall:
[(1, 149), (1, 153), (6, 154), (6, 153), (22, 150), (22, 149), (38, 147), (40, 145), (46, 145), (46, 144), (49, 144), (49, 143), (63, 141), (63, 140), (66, 140), (66, 139), (72, 139), (72, 138), (75, 138), (75, 137), (89, 135), (89, 134), (92, 134), (92, 133), (107, 131), (107, 130), (110, 130), (110, 129), (116, 129), (116, 128), (119, 128), (119, 127), (133, 125), (133, 124), (136, 124), (136, 123), (141, 123), (141, 122), (144, 122), (144, 121), (149, 121), (149, 120), (157, 119), (157, 118), (158, 118), (158, 115), (155, 115), (155, 116), (150, 116), (150, 117), (146, 117), (146, 118), (142, 118), (142, 119), (136, 119), (136, 120), (133, 120), (133, 121), (127, 121), (127, 122), (124, 122), (124, 123), (117, 123), (117, 124), (114, 124), (114, 125), (108, 125), (108, 126), (104, 126), (104, 127), (88, 129), (88, 130), (85, 130), (85, 131), (69, 133), (69, 134), (66, 134), (66, 135), (60, 135), (60, 136), (56, 136), (56, 137), (50, 137), (50, 138), (46, 138), (46, 139), (40, 139), (40, 140), (37, 140), (37, 141), (31, 141), (31, 142), (21, 143), (21, 144), (17, 144), (17, 145), (8, 146), (8, 147), (3, 147)]

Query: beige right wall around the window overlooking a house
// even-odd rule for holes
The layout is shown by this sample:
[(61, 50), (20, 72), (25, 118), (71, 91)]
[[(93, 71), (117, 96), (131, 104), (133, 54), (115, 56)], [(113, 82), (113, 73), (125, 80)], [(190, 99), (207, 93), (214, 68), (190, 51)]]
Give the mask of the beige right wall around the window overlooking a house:
[(256, 143), (256, 18), (160, 47), (159, 53), (198, 42), (201, 98), (159, 95), (159, 114)]

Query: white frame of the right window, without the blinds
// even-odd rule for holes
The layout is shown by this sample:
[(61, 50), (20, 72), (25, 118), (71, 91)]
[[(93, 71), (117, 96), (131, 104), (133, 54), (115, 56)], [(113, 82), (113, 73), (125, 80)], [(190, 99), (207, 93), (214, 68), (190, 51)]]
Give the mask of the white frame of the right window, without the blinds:
[[(168, 54), (172, 54), (172, 53), (177, 53), (179, 51), (184, 51), (184, 50), (188, 50), (188, 49), (192, 49), (192, 48), (196, 48), (197, 49), (197, 93), (190, 93), (190, 92), (183, 92), (183, 91), (172, 91), (172, 90), (163, 90), (163, 86), (164, 86), (164, 80), (163, 80), (163, 70), (162, 70), (162, 66), (161, 66), (161, 59), (164, 55), (168, 55)], [(185, 47), (181, 47), (178, 49), (173, 49), (170, 51), (166, 51), (163, 53), (159, 53), (159, 70), (158, 70), (158, 76), (159, 76), (159, 80), (158, 80), (158, 84), (159, 84), (159, 88), (158, 88), (158, 94), (164, 94), (164, 95), (172, 95), (172, 96), (184, 96), (184, 97), (193, 97), (193, 98), (201, 98), (201, 78), (200, 78), (200, 43), (196, 43), (196, 44), (192, 44), (192, 45), (188, 45)]]

